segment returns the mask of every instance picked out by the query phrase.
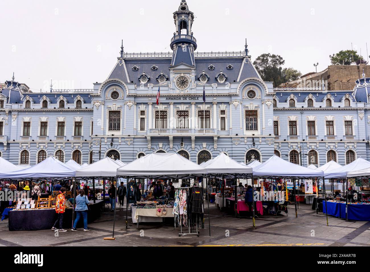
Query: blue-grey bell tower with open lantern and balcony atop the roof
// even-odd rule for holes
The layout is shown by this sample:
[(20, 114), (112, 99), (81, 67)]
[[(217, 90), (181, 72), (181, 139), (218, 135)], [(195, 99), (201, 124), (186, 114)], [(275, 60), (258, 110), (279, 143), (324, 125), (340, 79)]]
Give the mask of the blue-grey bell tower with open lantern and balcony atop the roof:
[(182, 0), (177, 11), (174, 12), (175, 32), (171, 39), (170, 47), (173, 51), (172, 66), (184, 62), (195, 66), (194, 50), (196, 39), (191, 27), (194, 21), (194, 13), (189, 10), (185, 0)]

